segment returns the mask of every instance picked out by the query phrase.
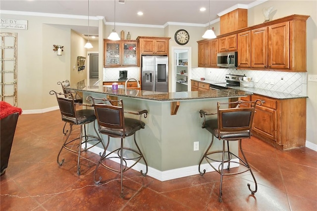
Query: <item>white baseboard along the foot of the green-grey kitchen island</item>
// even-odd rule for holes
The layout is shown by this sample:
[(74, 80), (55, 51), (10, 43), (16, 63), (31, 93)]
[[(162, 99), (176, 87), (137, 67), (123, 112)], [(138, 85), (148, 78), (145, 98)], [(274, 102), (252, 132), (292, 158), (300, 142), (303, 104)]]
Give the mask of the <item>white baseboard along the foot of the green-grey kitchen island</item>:
[[(92, 146), (92, 145), (87, 144), (87, 147), (90, 147), (90, 146)], [(103, 153), (103, 149), (100, 147), (96, 147), (96, 146), (89, 149), (89, 151), (92, 153), (98, 154), (98, 155), (100, 155), (100, 153), (101, 154)], [(109, 152), (107, 151), (107, 153), (109, 153)], [(117, 154), (113, 154), (113, 156), (117, 156)], [(120, 160), (118, 158), (114, 158), (111, 160), (113, 160), (114, 162), (117, 162), (117, 163), (120, 162)], [(133, 161), (127, 160), (128, 164), (131, 164), (131, 163), (129, 163), (129, 161), (131, 163), (133, 163)], [(239, 162), (239, 159), (235, 158), (235, 159), (232, 159), (232, 161)], [(219, 162), (212, 162), (211, 164), (213, 166), (218, 166)], [(227, 165), (228, 165), (228, 163), (225, 163), (224, 167), (226, 168)], [(238, 166), (239, 166), (238, 163), (233, 162), (230, 164), (231, 168), (238, 167)], [(145, 166), (145, 164), (139, 162), (136, 165), (134, 165), (132, 167), (132, 169), (134, 169), (136, 171), (143, 170), (143, 172), (145, 172), (146, 166)], [(208, 163), (204, 163), (201, 165), (201, 171), (203, 171), (204, 169), (206, 169), (206, 172), (214, 171), (214, 169)], [(171, 180), (171, 179), (177, 179), (177, 178), (192, 176), (192, 175), (196, 175), (196, 174), (199, 174), (198, 165), (176, 168), (176, 169), (171, 169), (171, 170), (166, 170), (166, 171), (160, 171), (158, 169), (155, 169), (155, 168), (152, 168), (149, 166), (147, 175), (149, 175), (150, 177), (153, 177), (159, 181), (167, 181), (167, 180)]]

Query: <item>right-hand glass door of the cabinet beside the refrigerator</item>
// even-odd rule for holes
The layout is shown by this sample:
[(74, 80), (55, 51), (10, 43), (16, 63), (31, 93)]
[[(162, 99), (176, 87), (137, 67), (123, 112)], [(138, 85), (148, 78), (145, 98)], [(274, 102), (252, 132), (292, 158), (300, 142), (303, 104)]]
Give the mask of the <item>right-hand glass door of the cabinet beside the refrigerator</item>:
[(138, 65), (138, 49), (137, 42), (124, 42), (122, 54), (122, 65), (137, 66)]

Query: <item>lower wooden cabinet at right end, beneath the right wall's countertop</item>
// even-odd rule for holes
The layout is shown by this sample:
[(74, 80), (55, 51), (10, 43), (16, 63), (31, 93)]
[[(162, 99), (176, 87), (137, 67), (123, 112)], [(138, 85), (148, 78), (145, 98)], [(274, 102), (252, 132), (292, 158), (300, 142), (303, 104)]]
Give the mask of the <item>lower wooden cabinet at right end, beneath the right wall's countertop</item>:
[(256, 106), (253, 136), (280, 150), (305, 147), (306, 98), (274, 99), (256, 94), (241, 98), (258, 99), (264, 103)]

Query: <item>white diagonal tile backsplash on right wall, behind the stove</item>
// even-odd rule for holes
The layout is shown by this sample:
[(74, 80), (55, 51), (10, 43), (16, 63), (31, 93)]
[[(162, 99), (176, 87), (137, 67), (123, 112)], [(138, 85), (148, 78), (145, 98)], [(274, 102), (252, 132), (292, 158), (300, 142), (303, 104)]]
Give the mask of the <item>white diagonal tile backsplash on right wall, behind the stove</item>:
[(307, 96), (307, 72), (237, 70), (236, 68), (192, 68), (191, 78), (225, 81), (226, 74), (252, 77), (255, 87), (294, 95)]

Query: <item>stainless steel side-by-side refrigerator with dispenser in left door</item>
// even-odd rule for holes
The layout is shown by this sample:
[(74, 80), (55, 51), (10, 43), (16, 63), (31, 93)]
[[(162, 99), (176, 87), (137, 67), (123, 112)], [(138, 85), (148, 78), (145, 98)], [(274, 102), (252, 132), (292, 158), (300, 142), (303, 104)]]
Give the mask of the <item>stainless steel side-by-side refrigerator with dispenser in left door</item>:
[(168, 92), (168, 56), (142, 56), (141, 74), (142, 90)]

